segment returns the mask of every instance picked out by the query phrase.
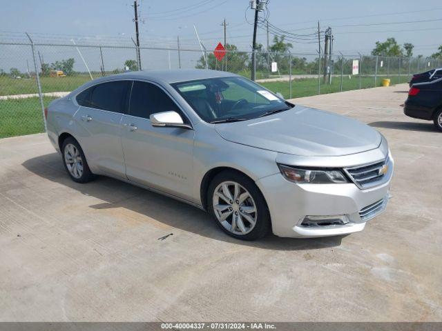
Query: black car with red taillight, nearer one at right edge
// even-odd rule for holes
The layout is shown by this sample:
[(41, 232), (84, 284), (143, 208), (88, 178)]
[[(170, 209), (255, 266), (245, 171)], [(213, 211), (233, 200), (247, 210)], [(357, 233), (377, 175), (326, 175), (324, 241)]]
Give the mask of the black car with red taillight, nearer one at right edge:
[(434, 121), (434, 126), (442, 131), (442, 78), (413, 84), (403, 112), (415, 119)]

